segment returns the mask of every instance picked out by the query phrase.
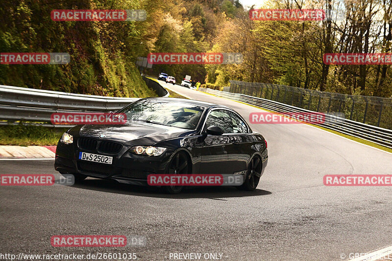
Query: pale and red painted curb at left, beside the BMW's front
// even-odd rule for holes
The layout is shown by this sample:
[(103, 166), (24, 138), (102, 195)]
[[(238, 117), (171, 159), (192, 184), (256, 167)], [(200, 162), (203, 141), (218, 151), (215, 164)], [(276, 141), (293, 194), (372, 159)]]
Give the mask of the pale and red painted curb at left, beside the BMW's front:
[(0, 145), (0, 160), (53, 160), (56, 146), (5, 146)]

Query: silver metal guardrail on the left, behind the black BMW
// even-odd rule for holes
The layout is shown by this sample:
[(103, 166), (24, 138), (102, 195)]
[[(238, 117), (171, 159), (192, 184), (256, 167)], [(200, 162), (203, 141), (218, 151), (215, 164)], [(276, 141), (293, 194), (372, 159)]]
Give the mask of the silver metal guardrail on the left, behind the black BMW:
[[(53, 126), (52, 113), (109, 112), (117, 111), (137, 98), (78, 95), (62, 92), (0, 85), (1, 125), (15, 124), (16, 121)], [(54, 125), (71, 127), (73, 125)]]

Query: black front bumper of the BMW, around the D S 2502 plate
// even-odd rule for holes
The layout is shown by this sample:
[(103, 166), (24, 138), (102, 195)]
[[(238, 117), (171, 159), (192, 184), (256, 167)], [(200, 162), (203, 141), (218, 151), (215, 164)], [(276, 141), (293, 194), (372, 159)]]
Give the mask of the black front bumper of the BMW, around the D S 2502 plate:
[[(107, 154), (80, 149), (77, 142), (58, 142), (54, 168), (60, 173), (79, 173), (89, 177), (113, 179), (120, 183), (147, 186), (148, 174), (166, 173), (172, 150), (167, 149), (161, 156), (135, 155), (123, 145), (120, 152)], [(113, 157), (112, 164), (79, 160), (79, 152), (88, 152)]]

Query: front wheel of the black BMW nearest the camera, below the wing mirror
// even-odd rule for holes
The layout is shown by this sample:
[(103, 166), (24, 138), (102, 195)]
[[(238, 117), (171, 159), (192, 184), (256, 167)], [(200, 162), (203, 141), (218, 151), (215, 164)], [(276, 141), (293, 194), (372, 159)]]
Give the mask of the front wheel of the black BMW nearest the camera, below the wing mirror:
[[(177, 152), (169, 163), (167, 174), (189, 174), (190, 167), (188, 157), (185, 152)], [(184, 186), (163, 186), (166, 193), (178, 194), (182, 191)]]

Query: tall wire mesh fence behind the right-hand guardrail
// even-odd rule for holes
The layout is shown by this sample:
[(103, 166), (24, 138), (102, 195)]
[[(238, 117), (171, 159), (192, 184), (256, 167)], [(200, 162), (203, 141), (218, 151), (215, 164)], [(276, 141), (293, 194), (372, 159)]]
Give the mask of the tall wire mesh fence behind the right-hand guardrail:
[(337, 94), (286, 85), (233, 80), (230, 81), (230, 89), (223, 91), (274, 100), (316, 112), (344, 113), (345, 119), (392, 130), (392, 98)]

